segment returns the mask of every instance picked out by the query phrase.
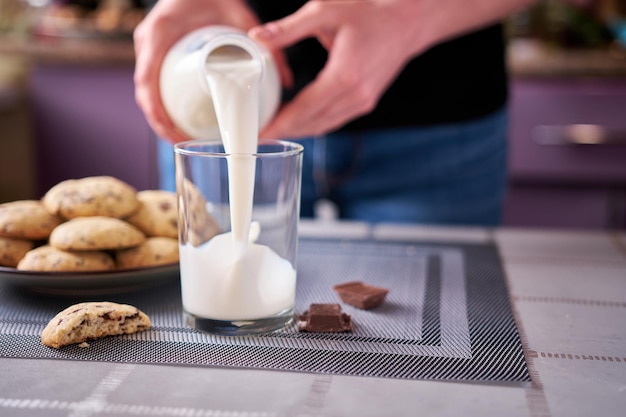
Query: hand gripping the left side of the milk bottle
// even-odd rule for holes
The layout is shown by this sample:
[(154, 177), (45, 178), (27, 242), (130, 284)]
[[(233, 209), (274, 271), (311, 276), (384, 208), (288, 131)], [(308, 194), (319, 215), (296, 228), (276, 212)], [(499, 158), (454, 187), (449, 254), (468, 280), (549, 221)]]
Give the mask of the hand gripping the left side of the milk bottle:
[(244, 31), (258, 19), (243, 0), (159, 0), (134, 32), (135, 100), (154, 132), (170, 142), (188, 140), (168, 116), (159, 89), (167, 51), (188, 32), (208, 25)]

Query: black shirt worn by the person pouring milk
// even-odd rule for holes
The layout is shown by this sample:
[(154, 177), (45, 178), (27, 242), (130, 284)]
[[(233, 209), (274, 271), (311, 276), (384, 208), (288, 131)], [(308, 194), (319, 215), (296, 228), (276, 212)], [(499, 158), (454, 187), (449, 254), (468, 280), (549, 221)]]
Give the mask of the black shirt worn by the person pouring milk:
[[(306, 0), (248, 0), (263, 22), (295, 12)], [(295, 86), (292, 98), (324, 66), (326, 50), (315, 39), (286, 51)], [(376, 59), (376, 57), (372, 57)], [(502, 25), (439, 44), (410, 61), (376, 109), (341, 130), (427, 126), (465, 121), (501, 108), (508, 95)]]

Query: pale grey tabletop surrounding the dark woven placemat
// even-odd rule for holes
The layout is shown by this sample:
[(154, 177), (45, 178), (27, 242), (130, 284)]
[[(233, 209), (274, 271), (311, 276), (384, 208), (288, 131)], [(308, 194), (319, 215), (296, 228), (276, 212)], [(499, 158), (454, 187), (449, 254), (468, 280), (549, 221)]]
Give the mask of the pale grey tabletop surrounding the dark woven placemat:
[(626, 234), (301, 222), (302, 236), (492, 242), (532, 383), (0, 358), (2, 416), (622, 416)]

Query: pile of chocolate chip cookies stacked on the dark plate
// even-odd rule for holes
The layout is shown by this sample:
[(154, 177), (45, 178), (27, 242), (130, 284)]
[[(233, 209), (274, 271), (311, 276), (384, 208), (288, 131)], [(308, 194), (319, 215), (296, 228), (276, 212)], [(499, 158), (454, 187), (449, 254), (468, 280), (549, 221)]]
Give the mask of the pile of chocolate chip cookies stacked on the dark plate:
[(176, 194), (109, 176), (66, 180), (41, 200), (0, 204), (0, 265), (107, 271), (178, 262)]

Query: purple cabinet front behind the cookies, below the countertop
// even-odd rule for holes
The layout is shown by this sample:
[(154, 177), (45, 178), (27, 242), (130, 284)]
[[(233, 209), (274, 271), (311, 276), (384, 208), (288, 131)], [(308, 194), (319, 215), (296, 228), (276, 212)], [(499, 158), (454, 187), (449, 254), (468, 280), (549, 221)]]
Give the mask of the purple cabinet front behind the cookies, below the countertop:
[(93, 175), (155, 187), (154, 139), (135, 104), (132, 67), (39, 65), (30, 91), (40, 195)]

